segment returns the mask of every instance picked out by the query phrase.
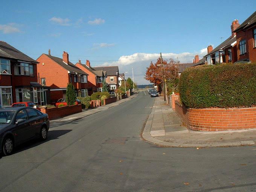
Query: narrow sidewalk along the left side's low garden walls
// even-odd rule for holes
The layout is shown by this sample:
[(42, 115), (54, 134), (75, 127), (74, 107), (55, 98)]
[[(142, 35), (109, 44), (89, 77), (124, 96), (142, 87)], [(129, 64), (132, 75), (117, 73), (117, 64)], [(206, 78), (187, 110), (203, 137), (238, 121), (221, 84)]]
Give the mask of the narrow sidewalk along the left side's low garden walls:
[(115, 107), (117, 105), (120, 105), (120, 104), (122, 104), (122, 103), (124, 103), (126, 101), (129, 101), (129, 100), (135, 98), (136, 96), (137, 96), (137, 93), (131, 95), (128, 98), (121, 99), (119, 101), (116, 101), (114, 103), (111, 103), (111, 104), (108, 104), (108, 105), (105, 105), (105, 106), (96, 107), (96, 108), (93, 108), (93, 109), (83, 109), (81, 113), (75, 113), (75, 114), (72, 114), (72, 115), (69, 115), (69, 116), (65, 116), (65, 117), (62, 117), (62, 118), (59, 118), (59, 119), (50, 120), (50, 128), (54, 128), (56, 126), (65, 125), (67, 123), (70, 123), (72, 121), (81, 119), (83, 117), (86, 117), (86, 116), (89, 116), (89, 115), (92, 115), (92, 114), (95, 114), (95, 113), (99, 113), (99, 112), (107, 110), (107, 109), (109, 109), (111, 107)]

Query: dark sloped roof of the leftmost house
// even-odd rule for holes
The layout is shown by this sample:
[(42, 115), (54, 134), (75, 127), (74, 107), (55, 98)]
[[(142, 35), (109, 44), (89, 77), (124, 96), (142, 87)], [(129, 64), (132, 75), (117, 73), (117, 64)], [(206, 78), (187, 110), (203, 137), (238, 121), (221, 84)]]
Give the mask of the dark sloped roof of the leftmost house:
[(15, 49), (14, 47), (12, 47), (11, 45), (9, 45), (4, 41), (0, 41), (0, 56), (10, 58), (10, 59), (17, 59), (21, 61), (38, 63), (31, 57), (25, 55), (24, 53), (20, 52), (18, 49)]

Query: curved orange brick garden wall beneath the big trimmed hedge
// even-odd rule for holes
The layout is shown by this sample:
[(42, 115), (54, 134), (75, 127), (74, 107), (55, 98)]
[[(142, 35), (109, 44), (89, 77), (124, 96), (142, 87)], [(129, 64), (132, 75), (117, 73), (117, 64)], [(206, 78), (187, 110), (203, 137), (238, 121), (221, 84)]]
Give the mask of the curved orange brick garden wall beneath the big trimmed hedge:
[(179, 98), (172, 95), (172, 108), (191, 130), (223, 131), (256, 128), (256, 107), (192, 109), (181, 105)]

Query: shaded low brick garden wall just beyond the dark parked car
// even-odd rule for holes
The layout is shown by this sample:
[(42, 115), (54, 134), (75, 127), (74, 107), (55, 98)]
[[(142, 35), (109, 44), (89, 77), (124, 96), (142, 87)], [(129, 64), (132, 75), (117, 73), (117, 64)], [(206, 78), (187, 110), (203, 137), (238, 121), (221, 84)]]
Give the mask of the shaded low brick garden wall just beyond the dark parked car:
[(49, 116), (49, 119), (57, 119), (59, 117), (64, 117), (73, 113), (79, 113), (82, 112), (82, 105), (70, 105), (70, 106), (63, 106), (63, 107), (53, 107), (53, 108), (47, 108), (47, 107), (40, 107), (40, 110), (42, 113), (47, 113)]

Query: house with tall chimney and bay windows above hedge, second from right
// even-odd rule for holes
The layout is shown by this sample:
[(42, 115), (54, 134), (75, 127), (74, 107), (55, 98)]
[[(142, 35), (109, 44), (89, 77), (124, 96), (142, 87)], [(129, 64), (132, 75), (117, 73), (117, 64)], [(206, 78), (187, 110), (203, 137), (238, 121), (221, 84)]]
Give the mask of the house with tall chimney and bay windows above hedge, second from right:
[(210, 45), (207, 47), (206, 58), (208, 65), (215, 65), (219, 63), (229, 63), (237, 61), (237, 50), (236, 50), (236, 30), (239, 27), (238, 20), (234, 20), (231, 25), (232, 35), (219, 44), (215, 49)]

